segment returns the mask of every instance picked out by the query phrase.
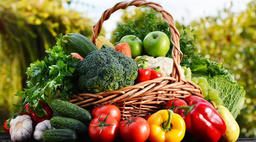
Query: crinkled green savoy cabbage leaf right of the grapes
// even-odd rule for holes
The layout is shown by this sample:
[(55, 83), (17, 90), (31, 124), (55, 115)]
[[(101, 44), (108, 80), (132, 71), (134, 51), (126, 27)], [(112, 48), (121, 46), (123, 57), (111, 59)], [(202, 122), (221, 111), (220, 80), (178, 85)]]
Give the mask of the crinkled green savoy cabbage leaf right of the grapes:
[(244, 87), (239, 86), (234, 77), (222, 66), (222, 63), (207, 58), (193, 60), (189, 67), (196, 77), (205, 77), (214, 89), (218, 90), (224, 106), (236, 119), (244, 104)]

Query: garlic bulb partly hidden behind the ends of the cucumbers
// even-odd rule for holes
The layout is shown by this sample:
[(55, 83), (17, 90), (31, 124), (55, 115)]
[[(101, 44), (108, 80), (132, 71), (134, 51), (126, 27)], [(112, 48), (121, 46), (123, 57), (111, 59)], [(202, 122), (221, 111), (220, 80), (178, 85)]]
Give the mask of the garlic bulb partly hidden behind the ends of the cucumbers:
[(55, 129), (52, 127), (50, 120), (44, 120), (43, 122), (38, 123), (34, 131), (34, 138), (38, 141), (44, 142), (42, 135), (44, 131), (50, 130), (50, 129)]

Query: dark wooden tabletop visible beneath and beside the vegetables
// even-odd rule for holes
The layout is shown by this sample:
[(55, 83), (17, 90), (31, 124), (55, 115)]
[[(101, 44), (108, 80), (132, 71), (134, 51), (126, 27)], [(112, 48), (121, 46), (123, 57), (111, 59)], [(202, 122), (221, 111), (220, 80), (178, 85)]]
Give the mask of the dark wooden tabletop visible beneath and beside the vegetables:
[[(11, 142), (11, 136), (8, 135), (7, 133), (0, 133), (0, 142)], [(92, 140), (88, 140), (88, 141), (92, 141)], [(87, 141), (87, 142), (88, 142)], [(31, 138), (28, 140), (28, 142), (38, 142), (36, 141), (34, 138)], [(181, 142), (188, 142), (188, 140), (185, 141), (181, 141)], [(238, 138), (238, 140), (236, 142), (256, 142), (256, 138)]]

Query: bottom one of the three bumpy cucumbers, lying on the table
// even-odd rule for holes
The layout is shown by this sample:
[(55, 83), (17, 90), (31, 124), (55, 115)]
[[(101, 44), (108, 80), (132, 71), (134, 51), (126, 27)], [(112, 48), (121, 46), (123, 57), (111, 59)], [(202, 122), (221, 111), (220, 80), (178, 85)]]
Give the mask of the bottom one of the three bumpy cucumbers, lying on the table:
[(42, 137), (46, 142), (75, 142), (77, 134), (70, 129), (51, 129), (44, 131)]

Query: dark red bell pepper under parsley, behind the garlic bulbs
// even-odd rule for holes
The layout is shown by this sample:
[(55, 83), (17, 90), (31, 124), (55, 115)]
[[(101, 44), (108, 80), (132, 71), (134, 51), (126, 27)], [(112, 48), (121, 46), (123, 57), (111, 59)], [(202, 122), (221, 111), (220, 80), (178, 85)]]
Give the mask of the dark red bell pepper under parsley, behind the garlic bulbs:
[[(33, 122), (33, 127), (35, 128), (36, 125), (40, 122), (43, 122), (44, 120), (50, 120), (52, 118), (52, 115), (53, 115), (53, 110), (52, 108), (50, 107), (50, 105), (48, 103), (44, 103), (42, 102), (41, 100), (39, 100), (39, 102), (42, 104), (42, 108), (39, 109), (39, 110), (32, 110), (30, 109), (28, 111), (28, 106), (29, 106), (29, 103), (25, 106), (26, 110), (30, 113), (30, 117), (31, 117), (31, 120)], [(23, 108), (24, 109), (24, 108)], [(20, 115), (27, 115), (27, 112), (24, 112), (24, 113), (21, 113), (20, 112)]]

